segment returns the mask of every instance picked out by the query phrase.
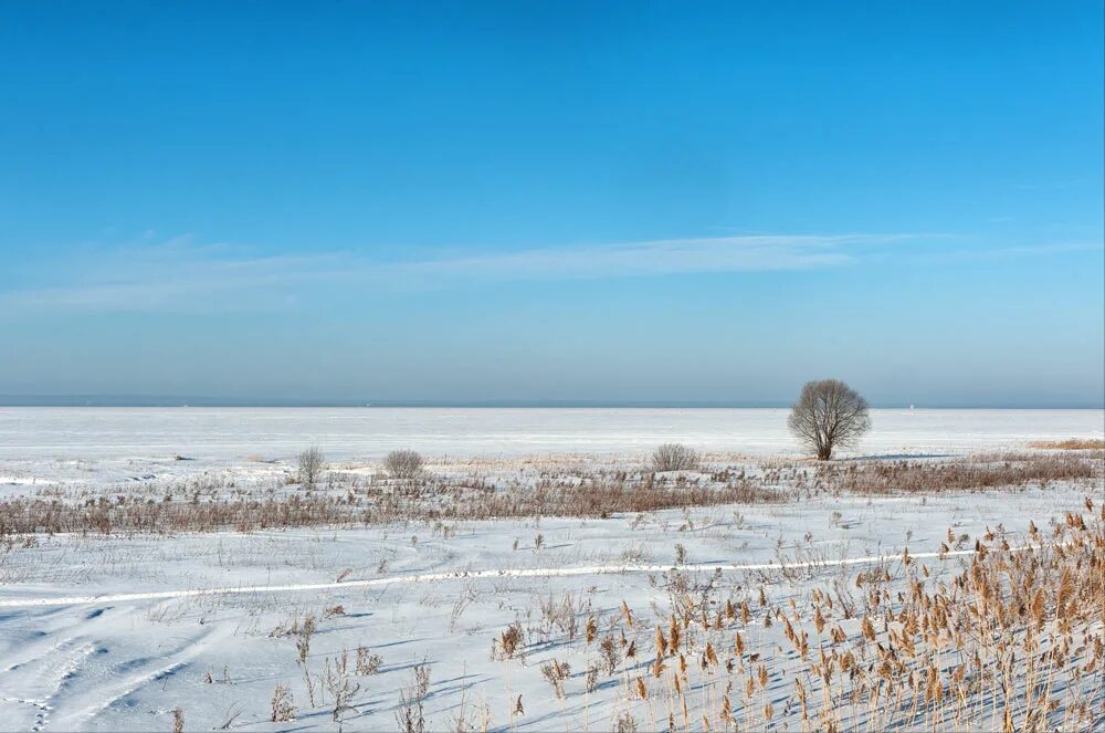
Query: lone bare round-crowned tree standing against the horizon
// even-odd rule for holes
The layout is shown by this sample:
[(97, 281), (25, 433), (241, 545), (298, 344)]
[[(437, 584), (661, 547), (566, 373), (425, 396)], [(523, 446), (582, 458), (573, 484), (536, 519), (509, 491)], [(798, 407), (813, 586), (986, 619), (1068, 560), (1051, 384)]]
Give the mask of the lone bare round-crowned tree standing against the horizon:
[(867, 400), (839, 379), (807, 381), (787, 425), (819, 461), (828, 461), (834, 448), (853, 444), (871, 429)]

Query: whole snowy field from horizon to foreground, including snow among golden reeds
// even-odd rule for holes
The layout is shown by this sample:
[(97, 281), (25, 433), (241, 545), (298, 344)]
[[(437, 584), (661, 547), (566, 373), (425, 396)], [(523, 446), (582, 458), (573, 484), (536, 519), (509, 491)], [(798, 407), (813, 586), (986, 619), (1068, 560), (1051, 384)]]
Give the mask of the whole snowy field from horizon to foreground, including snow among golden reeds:
[[(387, 522), (8, 531), (0, 727), (169, 731), (177, 716), (183, 730), (999, 730), (1008, 710), (1017, 730), (1103, 730), (1105, 572), (1085, 542), (1102, 536), (1103, 454), (1029, 444), (1099, 439), (1105, 413), (872, 419), (825, 475), (799, 459), (781, 410), (0, 409), (0, 499), (48, 509), (298, 494), (357, 512), (392, 494), (410, 504), (409, 486), (379, 478), (396, 448), (422, 451), (438, 477), (419, 488), (429, 496), (417, 512)], [(702, 451), (704, 467), (650, 475), (649, 452), (671, 440)], [(307, 446), (330, 461), (314, 492), (293, 475)], [(1084, 471), (1039, 478), (1071, 461)], [(851, 465), (903, 483), (860, 493)], [(893, 465), (902, 472), (886, 479)], [(964, 467), (949, 481), (969, 482), (1002, 465), (1036, 473), (981, 489), (911, 483), (917, 471)], [(770, 499), (588, 516), (418, 513), (473, 486), (656, 481), (662, 492), (739, 485)], [(998, 565), (978, 565), (979, 546)], [(1094, 568), (1084, 582), (1070, 573), (1080, 552), (1098, 563), (1078, 561)], [(965, 572), (975, 585), (955, 582)], [(1040, 585), (1042, 620), (1033, 626), (1031, 596), (1018, 611), (1017, 591), (979, 579), (991, 572)], [(1002, 593), (1013, 594), (1006, 605)], [(996, 614), (987, 633), (1015, 651), (987, 642), (989, 661), (964, 661), (971, 642), (956, 631), (970, 615), (947, 624), (956, 604)], [(1036, 657), (1048, 661), (1017, 661)], [(1028, 664), (1013, 689), (993, 673), (1007, 663)], [(834, 712), (803, 721), (824, 700)]]

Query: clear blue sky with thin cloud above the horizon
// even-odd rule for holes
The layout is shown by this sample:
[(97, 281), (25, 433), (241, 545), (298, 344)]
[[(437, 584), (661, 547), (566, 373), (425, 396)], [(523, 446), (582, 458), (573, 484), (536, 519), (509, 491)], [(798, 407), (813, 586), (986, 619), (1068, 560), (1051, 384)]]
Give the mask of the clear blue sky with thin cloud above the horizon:
[(0, 6), (0, 395), (1101, 406), (1099, 2)]

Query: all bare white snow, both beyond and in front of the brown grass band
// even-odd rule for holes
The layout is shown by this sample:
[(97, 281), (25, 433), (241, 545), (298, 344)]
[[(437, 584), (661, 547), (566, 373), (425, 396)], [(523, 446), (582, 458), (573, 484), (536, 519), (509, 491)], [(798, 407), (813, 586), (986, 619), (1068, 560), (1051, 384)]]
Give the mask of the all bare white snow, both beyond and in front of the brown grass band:
[[(962, 453), (1102, 433), (1099, 410), (876, 411), (860, 452)], [(396, 447), (439, 459), (505, 457), (505, 465), (515, 463), (511, 457), (543, 452), (640, 461), (664, 440), (767, 460), (794, 451), (779, 410), (20, 408), (0, 410), (0, 481), (25, 493), (211, 470), (248, 480), (276, 470), (250, 455), (280, 460), (284, 470), (306, 444), (347, 461), (348, 470)], [(1103, 488), (1092, 492), (1101, 502)], [(378, 672), (356, 678), (361, 687), (354, 709), (341, 715), (345, 730), (396, 730), (400, 690), (413, 684), (413, 669), (423, 662), (431, 670), (423, 701), (431, 731), (455, 730), (459, 718), (478, 730), (476, 711), (484, 710), (491, 730), (606, 731), (623, 711), (643, 729), (646, 709), (618, 679), (604, 678), (583, 694), (593, 646), (588, 651), (579, 638), (567, 641), (543, 617), (543, 600), (570, 598), (580, 624), (593, 615), (600, 626), (624, 601), (649, 637), (670, 608), (665, 570), (676, 545), (685, 548), (683, 570), (694, 578), (708, 579), (714, 566), (724, 566), (722, 583), (733, 594), (750, 596), (765, 585), (774, 601), (801, 603), (813, 587), (846, 580), (852, 563), (899, 557), (905, 547), (925, 557), (935, 577), (958, 572), (964, 557), (933, 555), (949, 527), (971, 543), (999, 525), (1015, 536), (1030, 520), (1041, 527), (1061, 522), (1085, 494), (1085, 488), (1054, 485), (814, 496), (604, 520), (35, 537), (0, 546), (0, 727), (170, 730), (179, 706), (188, 730), (228, 721), (230, 730), (338, 730), (325, 695), (308, 703), (295, 638), (281, 632), (313, 614), (319, 621), (312, 673), (358, 647), (382, 660)], [(748, 567), (781, 563), (813, 566), (787, 580)], [(624, 566), (635, 569), (618, 572)], [(225, 589), (235, 593), (219, 593)], [(323, 618), (336, 605), (344, 614)], [(524, 656), (493, 660), (492, 640), (516, 621), (527, 631)], [(758, 642), (770, 651), (776, 641), (764, 631)], [(554, 658), (572, 666), (562, 705), (539, 669)], [(269, 722), (278, 683), (294, 694), (295, 721)], [(769, 689), (778, 699), (791, 692), (786, 676)], [(519, 694), (525, 714), (512, 719)]]

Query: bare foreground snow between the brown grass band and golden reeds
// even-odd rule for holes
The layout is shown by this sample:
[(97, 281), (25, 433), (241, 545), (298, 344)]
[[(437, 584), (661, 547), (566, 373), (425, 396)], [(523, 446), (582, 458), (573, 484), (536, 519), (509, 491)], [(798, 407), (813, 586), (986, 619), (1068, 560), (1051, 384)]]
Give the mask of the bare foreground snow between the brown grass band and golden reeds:
[[(537, 599), (559, 600), (567, 594), (587, 604), (590, 612), (612, 617), (624, 600), (648, 630), (652, 605), (667, 605), (657, 583), (663, 572), (564, 577), (473, 572), (569, 570), (625, 562), (670, 567), (676, 543), (686, 547), (690, 563), (769, 564), (808, 546), (808, 532), (814, 535), (813, 547), (829, 561), (901, 556), (906, 546), (924, 556), (938, 551), (947, 527), (971, 537), (999, 524), (1023, 532), (1029, 519), (1041, 524), (1059, 519), (1059, 507), (1076, 507), (1082, 496), (1050, 490), (711, 507), (660, 512), (643, 522), (472, 522), (456, 526), (448, 538), (424, 526), (43, 538), (36, 547), (8, 553), (0, 565), (3, 600), (166, 591), (172, 597), (84, 597), (66, 605), (0, 608), (0, 720), (20, 730), (167, 730), (171, 710), (179, 705), (189, 724), (210, 730), (236, 706), (242, 712), (235, 725), (246, 730), (336, 727), (325, 705), (301, 708), (298, 720), (283, 725), (267, 722), (267, 705), (273, 688), (285, 683), (297, 704), (308, 708), (294, 639), (271, 633), (296, 617), (320, 616), (340, 604), (344, 616), (319, 621), (311, 652), (316, 671), (325, 658), (358, 646), (369, 647), (383, 662), (377, 674), (359, 680), (364, 690), (357, 710), (346, 716), (348, 729), (394, 730), (397, 691), (410, 684), (412, 667), (424, 660), (431, 667), (425, 702), (430, 730), (453, 726), (462, 694), (470, 705), (486, 702), (496, 730), (507, 727), (504, 706), (517, 694), (523, 694), (526, 709), (514, 722), (518, 730), (566, 724), (579, 730), (582, 645), (565, 645), (550, 629), (547, 641), (539, 632), (530, 633), (535, 642), (525, 662), (503, 662), (491, 660), (491, 640), (518, 619), (539, 629)], [(842, 515), (836, 522), (833, 512)], [(540, 548), (538, 534), (544, 537)], [(958, 567), (957, 559), (944, 563)], [(347, 568), (351, 572), (344, 580), (393, 582), (368, 587), (336, 583)], [(827, 563), (821, 577), (832, 577), (833, 569)], [(404, 577), (413, 573), (439, 575), (423, 582)], [(445, 573), (455, 577), (440, 575)], [(725, 580), (757, 587), (746, 572), (725, 573)], [(176, 594), (303, 584), (327, 587), (307, 593)], [(799, 597), (802, 588), (780, 583), (770, 591), (786, 599)], [(554, 657), (570, 660), (578, 670), (568, 683), (577, 694), (569, 698), (567, 712), (539, 672), (540, 663)], [(212, 683), (206, 682), (208, 672)], [(610, 730), (627, 704), (618, 684), (591, 695), (589, 726)]]

